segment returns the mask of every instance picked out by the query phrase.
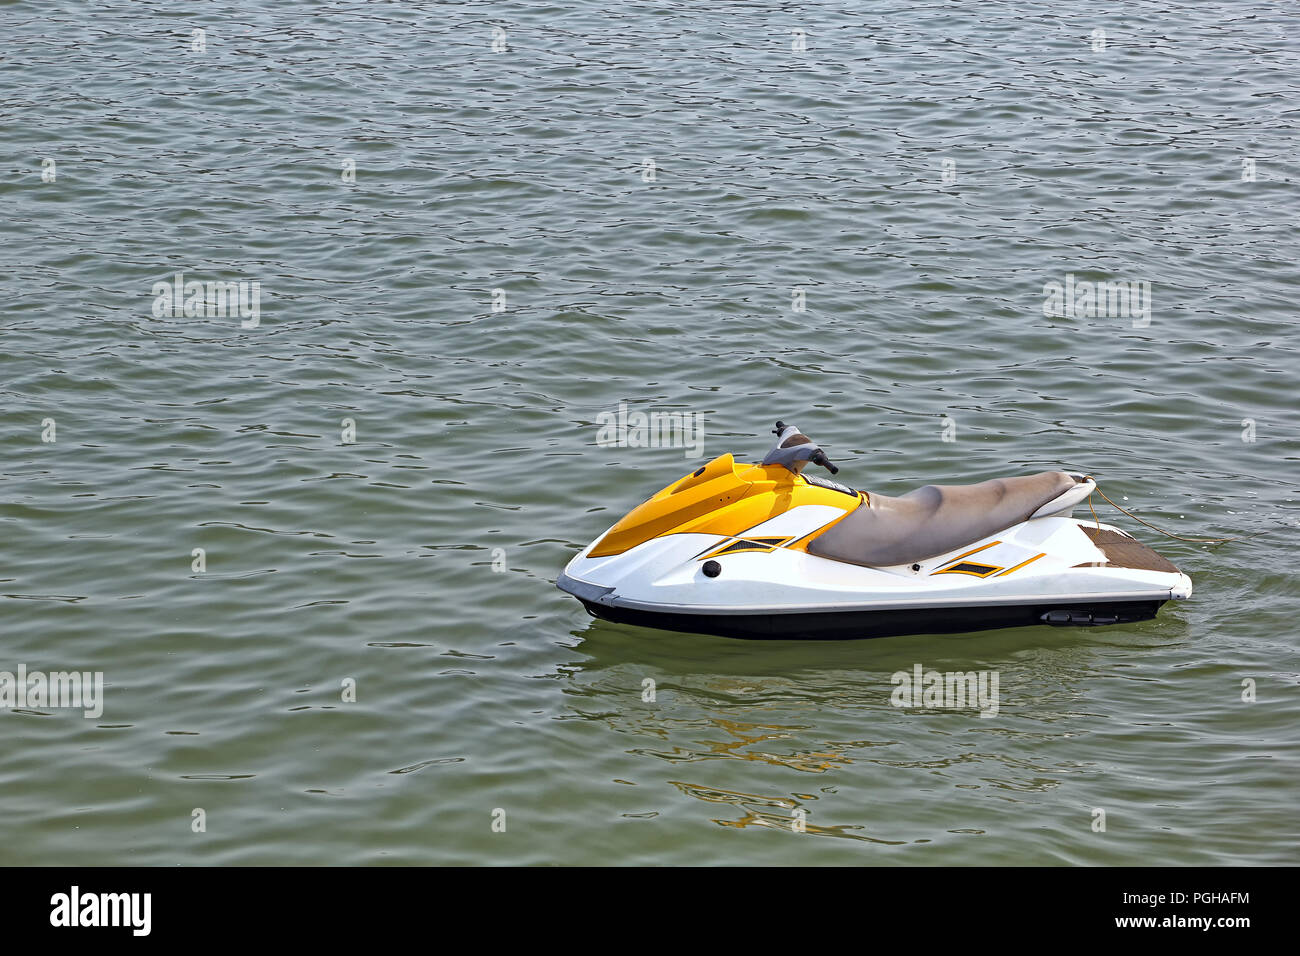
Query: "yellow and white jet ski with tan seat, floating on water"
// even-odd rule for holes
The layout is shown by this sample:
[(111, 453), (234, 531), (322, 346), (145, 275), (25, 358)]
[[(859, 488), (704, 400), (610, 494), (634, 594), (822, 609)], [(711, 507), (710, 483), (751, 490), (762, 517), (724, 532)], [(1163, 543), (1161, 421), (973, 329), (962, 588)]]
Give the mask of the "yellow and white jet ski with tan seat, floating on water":
[(758, 464), (720, 455), (584, 548), (556, 587), (598, 618), (728, 637), (849, 639), (1147, 620), (1191, 579), (1071, 516), (1096, 483), (1045, 471), (897, 498), (794, 425)]

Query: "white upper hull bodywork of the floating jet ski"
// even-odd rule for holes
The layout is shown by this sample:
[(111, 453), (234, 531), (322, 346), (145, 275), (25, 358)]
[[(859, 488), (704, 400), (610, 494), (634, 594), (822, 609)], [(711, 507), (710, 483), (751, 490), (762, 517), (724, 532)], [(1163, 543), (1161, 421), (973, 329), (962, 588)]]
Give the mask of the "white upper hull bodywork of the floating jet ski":
[[(837, 509), (824, 506), (796, 507), (742, 537), (797, 541), (840, 515)], [(1180, 571), (1115, 566), (1084, 532), (1095, 527), (1132, 541), (1113, 525), (1049, 516), (1022, 522), (918, 564), (861, 567), (779, 546), (719, 555), (718, 575), (707, 576), (701, 555), (736, 538), (684, 533), (602, 558), (588, 557), (588, 546), (564, 568), (559, 585), (595, 613), (610, 609), (705, 617), (942, 613), (1124, 602), (1158, 607), (1192, 593), (1191, 579)], [(963, 567), (974, 572), (954, 570)]]

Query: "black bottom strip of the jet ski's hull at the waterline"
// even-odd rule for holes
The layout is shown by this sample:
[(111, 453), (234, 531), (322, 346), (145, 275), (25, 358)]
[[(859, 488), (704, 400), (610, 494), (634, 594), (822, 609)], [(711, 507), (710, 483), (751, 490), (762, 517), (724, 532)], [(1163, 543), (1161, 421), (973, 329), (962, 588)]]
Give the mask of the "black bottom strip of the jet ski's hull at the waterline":
[(998, 627), (1053, 624), (1096, 627), (1150, 620), (1164, 601), (1043, 604), (997, 607), (931, 607), (796, 614), (670, 614), (582, 601), (597, 618), (664, 631), (758, 640), (853, 640), (911, 633), (963, 633)]

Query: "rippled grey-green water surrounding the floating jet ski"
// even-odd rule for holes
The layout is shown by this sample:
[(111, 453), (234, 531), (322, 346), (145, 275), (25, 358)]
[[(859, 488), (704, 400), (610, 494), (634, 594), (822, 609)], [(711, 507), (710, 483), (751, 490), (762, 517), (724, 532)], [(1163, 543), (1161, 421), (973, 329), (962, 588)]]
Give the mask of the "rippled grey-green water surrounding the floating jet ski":
[[(0, 711), (0, 862), (1296, 862), (1284, 5), (16, 3), (0, 39), (0, 670), (105, 680)], [(155, 315), (178, 271), (260, 282), (257, 326)], [(1071, 274), (1149, 323), (1045, 316)], [(696, 467), (598, 445), (619, 402), (706, 457), (793, 420), (887, 494), (1065, 467), (1274, 531), (1108, 509), (1196, 584), (1138, 626), (595, 623), (558, 571)], [(997, 670), (1000, 714), (890, 706), (914, 663)]]

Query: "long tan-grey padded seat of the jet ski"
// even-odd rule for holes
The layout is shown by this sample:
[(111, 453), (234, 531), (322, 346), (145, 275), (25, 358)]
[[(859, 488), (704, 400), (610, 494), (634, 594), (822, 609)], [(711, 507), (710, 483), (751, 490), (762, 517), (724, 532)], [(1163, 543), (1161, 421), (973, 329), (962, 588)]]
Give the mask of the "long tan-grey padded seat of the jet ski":
[(1063, 471), (1044, 471), (976, 485), (926, 485), (901, 498), (872, 494), (810, 541), (809, 553), (867, 567), (911, 564), (1006, 531), (1074, 485)]

